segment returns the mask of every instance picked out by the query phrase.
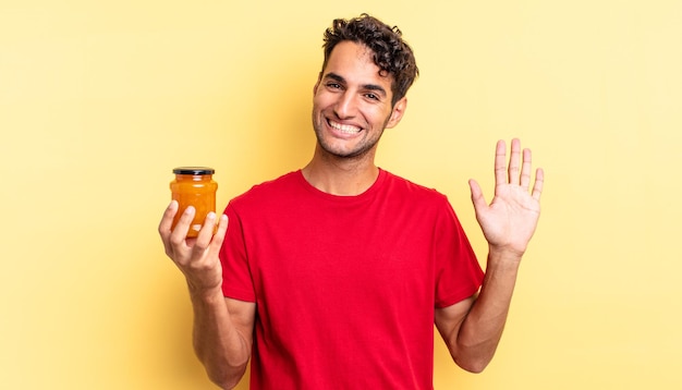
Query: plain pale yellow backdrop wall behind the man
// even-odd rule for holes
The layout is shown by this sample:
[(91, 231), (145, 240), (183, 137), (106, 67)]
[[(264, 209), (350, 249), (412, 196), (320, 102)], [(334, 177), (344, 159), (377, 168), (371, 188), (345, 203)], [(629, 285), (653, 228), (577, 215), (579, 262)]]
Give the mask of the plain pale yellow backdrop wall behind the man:
[(498, 355), (438, 339), (436, 389), (682, 387), (682, 2), (2, 0), (0, 388), (214, 388), (156, 232), (171, 169), (215, 167), (223, 207), (307, 162), (321, 33), (361, 12), (422, 71), (378, 163), (482, 259), (467, 179), (490, 197), (513, 136), (546, 169)]

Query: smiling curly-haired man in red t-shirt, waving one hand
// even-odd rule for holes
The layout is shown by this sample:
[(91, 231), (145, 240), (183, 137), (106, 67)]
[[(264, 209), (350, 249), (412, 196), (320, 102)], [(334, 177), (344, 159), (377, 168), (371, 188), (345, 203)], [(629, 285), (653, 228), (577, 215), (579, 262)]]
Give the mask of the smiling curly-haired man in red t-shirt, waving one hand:
[[(499, 343), (544, 173), (499, 142), (495, 198), (471, 181), (489, 244), (484, 276), (447, 198), (375, 164), (417, 75), (398, 28), (361, 15), (325, 34), (309, 163), (234, 198), (197, 239), (178, 204), (159, 224), (184, 273), (194, 345), (224, 389), (431, 389), (434, 324), (454, 362), (480, 371)], [(229, 224), (228, 224), (229, 219)], [(216, 234), (212, 234), (218, 223)], [(252, 358), (253, 354), (253, 358)]]

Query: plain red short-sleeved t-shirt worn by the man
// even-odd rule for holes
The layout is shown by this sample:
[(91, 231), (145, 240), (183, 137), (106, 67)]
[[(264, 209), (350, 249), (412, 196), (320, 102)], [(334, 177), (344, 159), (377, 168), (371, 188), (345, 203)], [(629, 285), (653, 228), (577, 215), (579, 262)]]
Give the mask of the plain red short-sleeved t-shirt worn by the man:
[(444, 195), (380, 170), (334, 196), (295, 171), (226, 214), (223, 293), (257, 307), (252, 389), (433, 389), (435, 307), (483, 281)]

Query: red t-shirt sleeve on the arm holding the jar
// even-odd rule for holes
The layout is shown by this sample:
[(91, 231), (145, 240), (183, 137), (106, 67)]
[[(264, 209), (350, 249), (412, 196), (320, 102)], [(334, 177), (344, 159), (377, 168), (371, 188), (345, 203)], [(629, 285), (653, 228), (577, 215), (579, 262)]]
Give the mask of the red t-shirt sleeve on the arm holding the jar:
[(256, 302), (242, 220), (232, 203), (224, 214), (228, 216), (228, 231), (220, 248), (222, 293), (227, 297)]

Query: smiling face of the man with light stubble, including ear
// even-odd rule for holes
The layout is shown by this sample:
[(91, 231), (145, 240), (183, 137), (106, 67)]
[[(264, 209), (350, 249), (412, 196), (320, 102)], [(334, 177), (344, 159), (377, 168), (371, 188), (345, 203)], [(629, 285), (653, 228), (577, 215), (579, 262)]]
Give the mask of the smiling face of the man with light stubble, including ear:
[(391, 107), (392, 76), (379, 75), (366, 46), (339, 42), (315, 84), (313, 126), (321, 149), (336, 157), (374, 153), (383, 129), (400, 122), (406, 100)]

